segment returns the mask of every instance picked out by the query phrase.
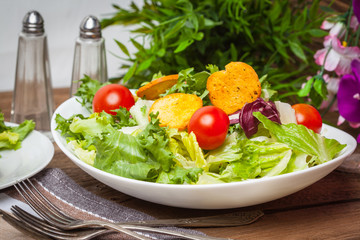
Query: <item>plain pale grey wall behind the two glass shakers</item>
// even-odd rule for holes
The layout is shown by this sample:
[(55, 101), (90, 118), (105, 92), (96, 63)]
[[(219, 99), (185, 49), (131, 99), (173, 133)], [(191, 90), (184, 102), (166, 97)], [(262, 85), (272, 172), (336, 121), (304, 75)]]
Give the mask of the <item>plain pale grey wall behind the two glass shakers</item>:
[[(114, 13), (112, 3), (129, 6), (130, 0), (0, 0), (0, 92), (14, 88), (15, 65), (18, 34), (22, 20), (30, 10), (38, 11), (45, 21), (48, 37), (52, 84), (54, 88), (70, 87), (75, 39), (79, 26), (87, 15), (99, 20)], [(141, 6), (142, 1), (133, 0)], [(112, 53), (119, 55), (120, 50), (113, 39), (128, 45), (130, 52), (135, 51), (129, 41), (130, 28), (111, 26), (102, 31), (107, 50), (108, 76), (117, 76), (122, 62)]]

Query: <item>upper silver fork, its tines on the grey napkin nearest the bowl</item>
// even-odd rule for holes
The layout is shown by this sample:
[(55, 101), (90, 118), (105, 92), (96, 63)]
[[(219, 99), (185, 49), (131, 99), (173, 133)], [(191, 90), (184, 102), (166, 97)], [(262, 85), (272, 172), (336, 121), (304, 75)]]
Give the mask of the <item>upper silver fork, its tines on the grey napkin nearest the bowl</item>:
[[(30, 185), (28, 185), (27, 183)], [(109, 229), (114, 231), (119, 231), (126, 233), (130, 236), (133, 236), (137, 239), (149, 239), (144, 236), (140, 236), (137, 233), (132, 232), (135, 231), (144, 231), (144, 232), (154, 232), (166, 235), (172, 235), (177, 237), (182, 237), (184, 239), (191, 240), (224, 240), (224, 238), (214, 238), (214, 237), (203, 237), (197, 236), (193, 234), (171, 231), (168, 229), (159, 229), (159, 228), (151, 228), (145, 226), (133, 226), (133, 225), (125, 225), (125, 224), (114, 224), (99, 220), (80, 220), (75, 219), (56, 206), (54, 206), (34, 185), (33, 183), (27, 179), (25, 181), (19, 182), (15, 184), (15, 188), (20, 193), (20, 195), (24, 198), (24, 200), (30, 205), (30, 207), (41, 216), (46, 222), (49, 224), (63, 230), (73, 230), (80, 228), (97, 228), (97, 229)], [(34, 189), (35, 191), (33, 191)], [(36, 193), (35, 193), (36, 192)], [(15, 212), (14, 212), (15, 213)], [(126, 231), (124, 231), (126, 230)]]

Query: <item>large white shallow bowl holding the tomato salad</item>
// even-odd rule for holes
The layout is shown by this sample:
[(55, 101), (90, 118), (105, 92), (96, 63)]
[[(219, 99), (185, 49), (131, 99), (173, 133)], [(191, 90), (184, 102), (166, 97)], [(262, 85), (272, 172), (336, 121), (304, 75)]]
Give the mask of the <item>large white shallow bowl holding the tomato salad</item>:
[(56, 114), (69, 118), (73, 114), (89, 113), (75, 98), (68, 99), (56, 109), (51, 131), (60, 149), (81, 169), (103, 182), (130, 196), (174, 207), (196, 209), (226, 209), (260, 204), (297, 192), (337, 168), (356, 148), (355, 139), (334, 127), (323, 125), (323, 134), (347, 144), (341, 155), (327, 163), (275, 177), (252, 179), (242, 182), (210, 185), (169, 185), (138, 181), (116, 176), (79, 160), (67, 147), (65, 139), (55, 130)]

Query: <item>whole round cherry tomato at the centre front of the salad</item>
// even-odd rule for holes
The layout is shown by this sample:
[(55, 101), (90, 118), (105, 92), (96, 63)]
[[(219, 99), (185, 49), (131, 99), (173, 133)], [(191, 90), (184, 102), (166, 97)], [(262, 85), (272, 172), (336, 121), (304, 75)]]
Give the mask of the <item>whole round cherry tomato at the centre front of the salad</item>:
[(212, 150), (224, 143), (229, 124), (229, 117), (223, 110), (214, 106), (206, 106), (198, 109), (192, 115), (188, 132), (194, 132), (202, 149)]

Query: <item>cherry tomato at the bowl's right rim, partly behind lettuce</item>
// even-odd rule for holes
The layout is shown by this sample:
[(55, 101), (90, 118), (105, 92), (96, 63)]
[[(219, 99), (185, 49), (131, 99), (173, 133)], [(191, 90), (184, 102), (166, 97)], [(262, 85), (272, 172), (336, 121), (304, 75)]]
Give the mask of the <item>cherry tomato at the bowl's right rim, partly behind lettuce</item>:
[(305, 127), (320, 133), (322, 127), (322, 119), (316, 108), (309, 104), (299, 103), (292, 106), (295, 110), (296, 121)]

